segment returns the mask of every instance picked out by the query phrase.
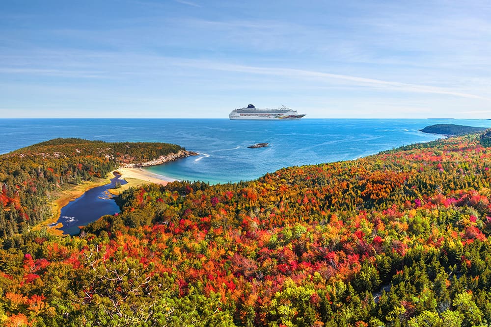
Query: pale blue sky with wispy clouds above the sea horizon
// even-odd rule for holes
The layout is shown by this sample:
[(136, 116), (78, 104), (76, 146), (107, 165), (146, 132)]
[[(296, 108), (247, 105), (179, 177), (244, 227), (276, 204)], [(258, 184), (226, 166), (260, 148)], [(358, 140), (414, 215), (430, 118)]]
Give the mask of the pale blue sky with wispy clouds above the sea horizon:
[(2, 0), (0, 118), (491, 118), (489, 0)]

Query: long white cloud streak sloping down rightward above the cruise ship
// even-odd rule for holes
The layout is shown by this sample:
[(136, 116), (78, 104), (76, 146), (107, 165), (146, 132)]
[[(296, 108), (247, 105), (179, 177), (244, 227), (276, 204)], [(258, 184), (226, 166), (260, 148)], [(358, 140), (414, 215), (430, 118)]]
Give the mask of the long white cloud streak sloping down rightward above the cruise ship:
[[(61, 54), (66, 54), (60, 51)], [(140, 55), (140, 54), (128, 54), (126, 56), (120, 56), (117, 54), (102, 54), (98, 53), (100, 68), (104, 67), (105, 70), (73, 70), (62, 69), (60, 67), (53, 68), (36, 68), (36, 67), (0, 67), (0, 73), (2, 74), (25, 74), (25, 75), (47, 75), (47, 76), (64, 76), (74, 78), (125, 78), (125, 75), (162, 75), (162, 69), (167, 74), (172, 72), (171, 66), (174, 67), (191, 67), (197, 70), (211, 70), (221, 71), (228, 73), (245, 73), (247, 75), (269, 75), (273, 77), (279, 77), (281, 79), (287, 78), (290, 81), (298, 79), (309, 80), (313, 83), (317, 83), (318, 86), (326, 84), (352, 86), (358, 88), (376, 88), (382, 91), (398, 91), (398, 92), (410, 92), (410, 93), (426, 93), (426, 94), (438, 94), (448, 95), (466, 99), (480, 99), (491, 101), (490, 98), (463, 92), (453, 88), (437, 87), (430, 85), (421, 85), (413, 83), (403, 83), (398, 81), (390, 81), (379, 78), (361, 77), (355, 75), (345, 74), (332, 74), (312, 70), (295, 69), (295, 68), (282, 68), (282, 67), (261, 67), (261, 66), (249, 66), (249, 65), (237, 65), (227, 62), (217, 62), (209, 60), (196, 60), (196, 59), (183, 59), (164, 56), (152, 56), (152, 55)], [(47, 66), (55, 66), (55, 62), (58, 62), (56, 55), (50, 57), (51, 63)], [(90, 53), (84, 53), (80, 55), (74, 55), (78, 57), (77, 61), (83, 63), (83, 57), (93, 57)], [(122, 60), (123, 59), (123, 60)], [(31, 64), (34, 60), (27, 60)], [(138, 63), (138, 64), (136, 64)], [(92, 68), (98, 68), (92, 67)], [(183, 74), (181, 72), (180, 74)], [(195, 74), (197, 74), (195, 72)], [(201, 74), (197, 74), (198, 76)], [(202, 76), (202, 75), (201, 75)]]

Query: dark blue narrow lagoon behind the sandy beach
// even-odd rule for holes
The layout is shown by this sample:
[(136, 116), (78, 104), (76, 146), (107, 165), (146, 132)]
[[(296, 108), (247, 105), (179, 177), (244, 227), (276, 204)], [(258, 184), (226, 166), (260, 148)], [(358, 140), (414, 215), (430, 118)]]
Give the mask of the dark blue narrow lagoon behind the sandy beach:
[(60, 229), (65, 235), (77, 235), (80, 233), (79, 226), (86, 226), (101, 216), (113, 215), (119, 212), (119, 207), (112, 199), (113, 195), (109, 193), (109, 189), (114, 188), (116, 183), (121, 185), (126, 184), (126, 180), (119, 179), (121, 175), (114, 174), (114, 178), (106, 185), (91, 188), (85, 192), (80, 198), (70, 201), (67, 205), (61, 208), (60, 217), (57, 223), (62, 223)]

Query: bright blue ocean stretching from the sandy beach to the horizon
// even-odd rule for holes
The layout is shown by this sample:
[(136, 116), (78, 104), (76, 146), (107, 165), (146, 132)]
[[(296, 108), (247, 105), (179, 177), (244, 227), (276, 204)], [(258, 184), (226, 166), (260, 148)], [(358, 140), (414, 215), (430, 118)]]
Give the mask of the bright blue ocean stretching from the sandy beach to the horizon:
[[(57, 137), (108, 142), (166, 142), (198, 156), (146, 168), (171, 179), (227, 183), (282, 167), (351, 160), (441, 136), (418, 130), (434, 124), (491, 126), (487, 120), (302, 119), (0, 119), (0, 153)], [(269, 147), (248, 149), (256, 143)], [(163, 177), (164, 178), (164, 177)]]

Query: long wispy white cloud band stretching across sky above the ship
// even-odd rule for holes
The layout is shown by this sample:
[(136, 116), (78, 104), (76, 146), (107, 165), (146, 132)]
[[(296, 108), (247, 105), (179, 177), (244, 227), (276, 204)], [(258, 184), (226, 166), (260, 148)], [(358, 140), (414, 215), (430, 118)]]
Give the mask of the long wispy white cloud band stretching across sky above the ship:
[[(72, 60), (68, 61), (68, 66), (64, 67), (61, 58), (66, 57), (67, 53), (70, 53)], [(64, 76), (64, 77), (80, 77), (80, 78), (128, 78), (129, 75), (139, 76), (164, 76), (166, 74), (177, 74), (186, 76), (194, 75), (197, 77), (197, 82), (200, 80), (207, 80), (208, 77), (214, 76), (214, 79), (219, 78), (218, 75), (210, 75), (199, 73), (200, 70), (226, 72), (226, 73), (239, 73), (240, 78), (255, 75), (268, 75), (279, 78), (278, 80), (287, 79), (290, 82), (301, 80), (308, 80), (311, 82), (309, 85), (317, 84), (319, 87), (323, 85), (337, 85), (337, 86), (351, 86), (356, 88), (365, 89), (378, 89), (382, 91), (397, 91), (397, 92), (410, 92), (410, 93), (426, 93), (426, 94), (438, 94), (448, 95), (466, 99), (480, 99), (485, 101), (491, 101), (489, 98), (489, 92), (487, 93), (471, 93), (463, 91), (468, 85), (463, 84), (459, 89), (458, 87), (442, 87), (435, 85), (405, 83), (394, 80), (387, 80), (381, 78), (349, 75), (349, 74), (333, 74), (322, 71), (286, 68), (286, 67), (268, 67), (268, 66), (251, 66), (231, 64), (226, 61), (211, 61), (211, 60), (198, 60), (198, 59), (185, 59), (158, 55), (137, 54), (128, 53), (124, 56), (118, 53), (110, 52), (64, 52), (53, 51), (48, 52), (46, 57), (47, 61), (42, 62), (40, 59), (43, 57), (29, 58), (25, 57), (23, 60), (31, 67), (19, 66), (18, 63), (14, 67), (0, 67), (0, 73), (3, 74), (31, 74), (31, 75), (49, 75), (49, 76)], [(96, 64), (94, 64), (94, 58), (96, 58)], [(79, 63), (79, 66), (88, 66), (93, 68), (92, 70), (78, 70), (69, 69), (74, 63)], [(44, 65), (44, 67), (36, 67), (36, 63)], [(57, 68), (51, 68), (55, 67)], [(50, 67), (50, 68), (46, 68)], [(174, 67), (174, 69), (172, 69)], [(189, 67), (196, 69), (194, 72), (184, 72), (177, 70), (177, 67)], [(95, 69), (94, 69), (95, 68)], [(98, 68), (104, 68), (99, 69)], [(174, 73), (173, 73), (174, 72)], [(164, 74), (164, 75), (163, 75)], [(244, 75), (246, 74), (246, 75)], [(190, 77), (191, 77), (190, 75)], [(126, 77), (125, 77), (126, 76)], [(238, 75), (239, 76), (239, 75)], [(239, 78), (239, 77), (238, 77)], [(489, 83), (488, 79), (477, 79), (482, 85)], [(476, 84), (476, 81), (470, 81), (472, 84)], [(455, 85), (455, 84), (454, 84)], [(478, 88), (481, 92), (486, 88)]]

